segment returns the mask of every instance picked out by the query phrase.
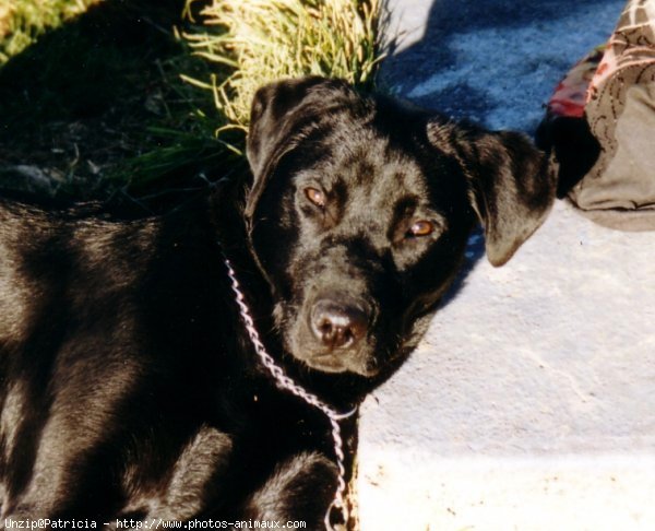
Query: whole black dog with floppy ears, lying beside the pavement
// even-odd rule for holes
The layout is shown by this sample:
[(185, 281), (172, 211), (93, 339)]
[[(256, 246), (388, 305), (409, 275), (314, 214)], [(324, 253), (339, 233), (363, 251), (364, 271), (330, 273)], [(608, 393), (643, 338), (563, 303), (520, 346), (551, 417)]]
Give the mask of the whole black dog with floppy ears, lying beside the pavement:
[(275, 362), (348, 411), (415, 347), (478, 220), (500, 266), (555, 194), (522, 135), (341, 81), (264, 86), (251, 123), (253, 182), (168, 215), (2, 201), (3, 523), (321, 529), (330, 422), (255, 354), (224, 256)]

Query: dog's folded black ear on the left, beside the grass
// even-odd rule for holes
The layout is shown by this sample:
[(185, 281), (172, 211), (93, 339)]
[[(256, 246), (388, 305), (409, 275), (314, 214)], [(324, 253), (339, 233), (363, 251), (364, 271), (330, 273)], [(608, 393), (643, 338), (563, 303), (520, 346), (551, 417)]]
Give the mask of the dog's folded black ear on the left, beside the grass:
[(254, 180), (246, 203), (247, 219), (252, 217), (282, 156), (353, 96), (347, 83), (319, 76), (277, 81), (258, 90), (248, 132), (247, 154)]

